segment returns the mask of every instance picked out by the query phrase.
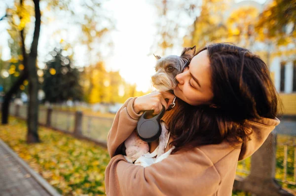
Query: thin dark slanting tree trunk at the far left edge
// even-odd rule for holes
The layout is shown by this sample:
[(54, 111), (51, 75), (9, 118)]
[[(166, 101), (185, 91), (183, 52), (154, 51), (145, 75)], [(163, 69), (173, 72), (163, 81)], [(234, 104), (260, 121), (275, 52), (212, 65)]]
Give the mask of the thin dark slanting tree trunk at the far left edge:
[[(22, 3), (22, 0), (21, 0)], [(9, 113), (9, 104), (10, 100), (13, 94), (17, 93), (19, 90), (19, 86), (24, 83), (24, 80), (28, 79), (28, 60), (27, 60), (27, 55), (26, 55), (26, 50), (25, 50), (25, 37), (24, 37), (24, 29), (20, 31), (21, 35), (21, 48), (22, 48), (22, 55), (23, 55), (23, 65), (24, 65), (24, 70), (21, 73), (20, 77), (18, 80), (12, 85), (12, 87), (8, 90), (8, 92), (5, 94), (3, 98), (3, 104), (2, 104), (2, 124), (8, 124), (8, 113)]]

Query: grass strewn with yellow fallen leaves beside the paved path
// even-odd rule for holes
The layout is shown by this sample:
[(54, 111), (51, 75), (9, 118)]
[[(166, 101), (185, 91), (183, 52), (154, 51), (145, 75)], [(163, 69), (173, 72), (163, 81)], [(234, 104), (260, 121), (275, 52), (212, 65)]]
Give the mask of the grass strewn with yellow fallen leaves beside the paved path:
[[(63, 121), (63, 115), (57, 119)], [(83, 120), (83, 130), (89, 131), (89, 137), (105, 139), (111, 122), (106, 119), (93, 118)], [(45, 178), (62, 195), (105, 195), (104, 172), (110, 161), (106, 149), (83, 140), (45, 127), (39, 127), (38, 133), (42, 143), (26, 143), (25, 121), (10, 117), (9, 125), (0, 126), (0, 138), (5, 141), (22, 159)], [(60, 124), (60, 123), (59, 123)], [(278, 135), (278, 142), (296, 143), (296, 137)], [(283, 179), (283, 146), (276, 152), (276, 179)], [(288, 147), (287, 180), (293, 181), (294, 147)], [(250, 170), (251, 158), (238, 163), (240, 169)], [(237, 172), (238, 175), (246, 176)], [(283, 187), (296, 189), (295, 185), (280, 183)], [(233, 196), (245, 196), (244, 192), (233, 192)], [(248, 195), (248, 194), (247, 194)]]

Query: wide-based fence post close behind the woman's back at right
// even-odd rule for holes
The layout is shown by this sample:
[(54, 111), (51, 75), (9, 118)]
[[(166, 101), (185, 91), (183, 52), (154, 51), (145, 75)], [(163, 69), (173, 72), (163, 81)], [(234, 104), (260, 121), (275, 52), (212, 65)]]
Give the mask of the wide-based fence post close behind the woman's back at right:
[(293, 196), (275, 181), (276, 133), (271, 132), (262, 146), (251, 157), (250, 175), (234, 181), (234, 190), (257, 196)]

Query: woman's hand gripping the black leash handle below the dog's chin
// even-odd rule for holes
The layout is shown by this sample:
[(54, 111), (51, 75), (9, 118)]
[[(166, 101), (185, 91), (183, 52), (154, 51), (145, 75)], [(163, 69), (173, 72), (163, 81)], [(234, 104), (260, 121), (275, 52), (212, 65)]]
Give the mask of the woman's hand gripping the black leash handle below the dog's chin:
[[(147, 95), (138, 97), (134, 101), (134, 111), (139, 113), (141, 111), (153, 110), (152, 114), (157, 114), (162, 110), (162, 105), (165, 109), (172, 103), (174, 95), (169, 92), (151, 92)], [(168, 103), (165, 101), (168, 99)]]

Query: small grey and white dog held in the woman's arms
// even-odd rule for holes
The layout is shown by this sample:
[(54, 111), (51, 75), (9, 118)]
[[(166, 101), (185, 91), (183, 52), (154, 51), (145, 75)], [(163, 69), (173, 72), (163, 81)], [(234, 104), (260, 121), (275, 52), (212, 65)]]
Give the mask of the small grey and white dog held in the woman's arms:
[[(184, 48), (181, 56), (170, 55), (166, 57), (155, 56), (157, 59), (155, 65), (156, 73), (151, 77), (152, 85), (158, 91), (173, 90), (177, 86), (176, 76), (183, 72), (185, 66), (190, 63), (190, 60), (195, 54), (195, 46), (192, 48)], [(162, 155), (165, 151), (166, 140), (168, 137), (168, 130), (165, 123), (161, 122), (161, 135), (159, 137), (159, 145), (157, 157)], [(129, 163), (134, 163), (139, 157), (149, 152), (149, 145), (147, 142), (141, 140), (136, 131), (134, 131), (129, 138), (124, 141), (125, 145), (125, 159)]]

